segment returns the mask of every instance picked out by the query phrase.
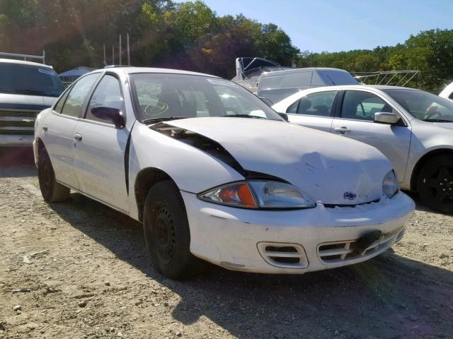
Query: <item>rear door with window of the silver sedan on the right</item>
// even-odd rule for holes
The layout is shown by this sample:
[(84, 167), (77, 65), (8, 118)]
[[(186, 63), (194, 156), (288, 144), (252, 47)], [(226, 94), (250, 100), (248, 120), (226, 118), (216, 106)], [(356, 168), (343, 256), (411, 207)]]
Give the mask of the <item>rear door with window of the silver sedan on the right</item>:
[(336, 90), (311, 93), (301, 97), (286, 109), (290, 122), (312, 129), (330, 132)]

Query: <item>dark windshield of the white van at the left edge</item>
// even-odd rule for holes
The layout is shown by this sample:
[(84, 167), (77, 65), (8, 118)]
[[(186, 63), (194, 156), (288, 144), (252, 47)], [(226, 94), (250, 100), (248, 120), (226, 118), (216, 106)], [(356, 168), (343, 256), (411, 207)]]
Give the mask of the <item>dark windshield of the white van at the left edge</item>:
[(58, 97), (64, 87), (49, 67), (0, 63), (0, 93)]

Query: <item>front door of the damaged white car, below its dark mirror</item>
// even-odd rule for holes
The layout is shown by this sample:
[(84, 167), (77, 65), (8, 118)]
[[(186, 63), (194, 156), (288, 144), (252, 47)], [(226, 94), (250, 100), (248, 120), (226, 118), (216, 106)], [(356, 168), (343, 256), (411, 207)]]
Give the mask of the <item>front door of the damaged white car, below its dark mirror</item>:
[(110, 107), (125, 113), (120, 81), (106, 73), (88, 102), (86, 116), (76, 124), (74, 168), (80, 191), (108, 205), (127, 212), (125, 150), (133, 119), (117, 129), (110, 121), (94, 117), (94, 107)]

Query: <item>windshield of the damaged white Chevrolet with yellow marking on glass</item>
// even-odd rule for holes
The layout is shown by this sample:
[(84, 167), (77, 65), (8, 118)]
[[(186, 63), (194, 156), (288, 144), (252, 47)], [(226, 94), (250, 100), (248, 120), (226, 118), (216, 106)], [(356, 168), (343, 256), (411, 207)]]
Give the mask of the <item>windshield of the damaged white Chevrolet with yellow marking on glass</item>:
[(137, 73), (130, 76), (140, 121), (195, 117), (282, 118), (258, 97), (220, 78)]

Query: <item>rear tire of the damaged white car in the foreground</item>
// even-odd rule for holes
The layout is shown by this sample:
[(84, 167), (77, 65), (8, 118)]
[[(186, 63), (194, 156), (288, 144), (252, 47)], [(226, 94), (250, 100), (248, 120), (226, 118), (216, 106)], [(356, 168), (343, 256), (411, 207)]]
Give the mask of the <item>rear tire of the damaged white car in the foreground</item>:
[(67, 200), (69, 196), (69, 188), (59, 184), (55, 180), (55, 172), (50, 162), (47, 150), (44, 148), (40, 151), (38, 157), (38, 179), (42, 198), (47, 203), (57, 203)]

